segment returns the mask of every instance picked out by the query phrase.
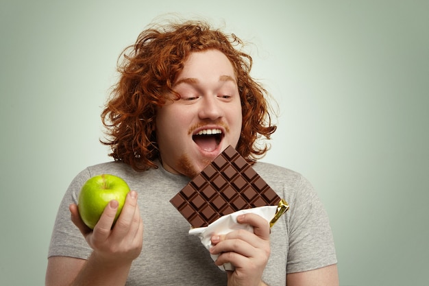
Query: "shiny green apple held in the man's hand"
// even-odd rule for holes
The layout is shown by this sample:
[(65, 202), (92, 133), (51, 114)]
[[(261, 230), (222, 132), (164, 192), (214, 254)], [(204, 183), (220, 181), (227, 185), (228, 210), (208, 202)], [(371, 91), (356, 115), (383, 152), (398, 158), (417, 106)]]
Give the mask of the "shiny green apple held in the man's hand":
[(82, 186), (77, 199), (77, 208), (82, 221), (89, 228), (94, 229), (104, 208), (111, 200), (117, 200), (119, 206), (117, 215), (114, 217), (116, 222), (129, 191), (127, 182), (117, 176), (102, 174), (90, 178)]

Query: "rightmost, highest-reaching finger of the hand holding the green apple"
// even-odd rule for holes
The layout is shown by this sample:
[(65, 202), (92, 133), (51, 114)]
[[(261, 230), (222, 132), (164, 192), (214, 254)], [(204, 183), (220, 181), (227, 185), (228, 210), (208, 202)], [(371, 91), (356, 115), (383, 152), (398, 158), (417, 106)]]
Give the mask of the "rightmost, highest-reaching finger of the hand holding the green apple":
[(121, 215), (119, 215), (118, 220), (114, 226), (113, 233), (114, 236), (125, 237), (130, 231), (134, 215), (136, 213), (137, 207), (137, 193), (136, 191), (130, 191), (127, 193), (127, 198), (125, 199), (125, 204), (123, 205)]

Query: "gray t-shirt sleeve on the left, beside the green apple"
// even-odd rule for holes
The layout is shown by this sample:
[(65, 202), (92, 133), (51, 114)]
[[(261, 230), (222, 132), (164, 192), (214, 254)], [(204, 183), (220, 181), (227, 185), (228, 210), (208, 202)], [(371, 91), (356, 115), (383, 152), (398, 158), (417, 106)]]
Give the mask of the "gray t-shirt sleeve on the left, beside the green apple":
[(88, 178), (90, 178), (90, 173), (88, 169), (85, 169), (73, 179), (64, 194), (53, 226), (48, 257), (64, 256), (88, 259), (93, 251), (79, 229), (71, 222), (69, 211), (71, 203), (77, 204), (79, 191)]

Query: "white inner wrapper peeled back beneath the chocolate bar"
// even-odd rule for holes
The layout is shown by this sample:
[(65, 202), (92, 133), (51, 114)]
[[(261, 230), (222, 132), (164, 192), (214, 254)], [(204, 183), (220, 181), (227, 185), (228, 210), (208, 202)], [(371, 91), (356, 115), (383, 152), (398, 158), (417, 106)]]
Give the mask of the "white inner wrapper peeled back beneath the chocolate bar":
[[(210, 238), (212, 235), (226, 235), (233, 230), (244, 229), (253, 233), (254, 228), (249, 224), (238, 224), (237, 217), (238, 215), (243, 215), (245, 213), (255, 213), (261, 217), (267, 219), (267, 222), (271, 222), (271, 219), (275, 216), (277, 211), (277, 206), (260, 206), (258, 208), (247, 208), (241, 211), (236, 211), (229, 215), (223, 215), (219, 217), (215, 222), (212, 222), (204, 228), (191, 228), (189, 230), (189, 235), (197, 235), (201, 239), (201, 243), (207, 248), (212, 247), (212, 242)], [(210, 254), (213, 261), (216, 261), (219, 255)], [(225, 270), (234, 270), (234, 265), (231, 263), (225, 263), (224, 265), (219, 266), (223, 271)]]

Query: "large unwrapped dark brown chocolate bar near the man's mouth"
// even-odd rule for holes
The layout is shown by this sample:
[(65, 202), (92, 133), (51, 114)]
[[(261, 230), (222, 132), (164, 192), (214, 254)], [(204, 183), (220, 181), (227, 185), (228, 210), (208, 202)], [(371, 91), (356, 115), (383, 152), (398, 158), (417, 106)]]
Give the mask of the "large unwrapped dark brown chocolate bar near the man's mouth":
[(229, 146), (170, 202), (191, 226), (199, 228), (241, 209), (277, 206), (280, 200), (245, 158)]

